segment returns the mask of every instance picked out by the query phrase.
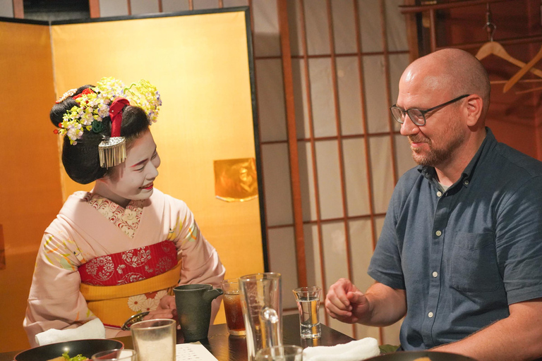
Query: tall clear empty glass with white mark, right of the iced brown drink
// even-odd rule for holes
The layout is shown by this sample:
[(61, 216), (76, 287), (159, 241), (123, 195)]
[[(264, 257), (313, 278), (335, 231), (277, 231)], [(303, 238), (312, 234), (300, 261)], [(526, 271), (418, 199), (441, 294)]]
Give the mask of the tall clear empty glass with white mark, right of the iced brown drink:
[(282, 281), (267, 272), (239, 277), (248, 360), (258, 350), (282, 345)]

